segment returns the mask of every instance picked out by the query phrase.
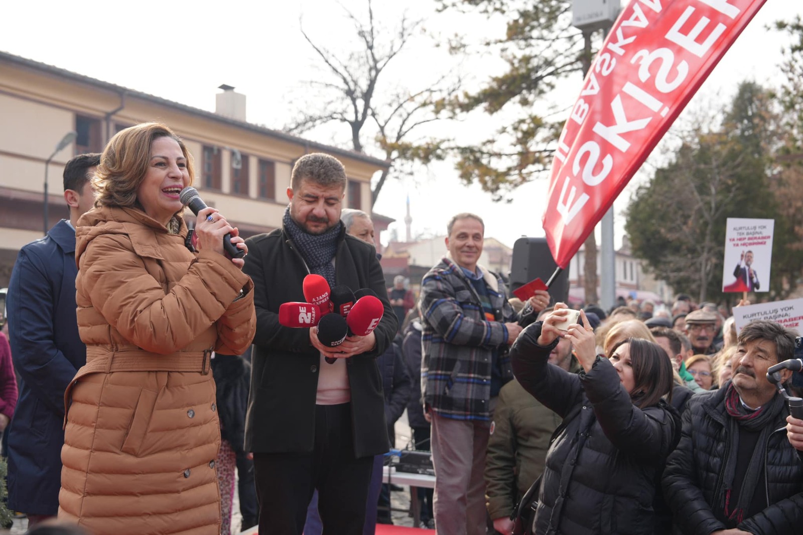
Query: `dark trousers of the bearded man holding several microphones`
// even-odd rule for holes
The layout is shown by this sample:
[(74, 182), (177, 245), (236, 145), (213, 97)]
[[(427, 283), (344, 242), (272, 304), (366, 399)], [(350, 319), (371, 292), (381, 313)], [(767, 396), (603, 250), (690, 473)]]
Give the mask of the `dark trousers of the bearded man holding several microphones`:
[(301, 535), (312, 492), (324, 533), (361, 535), (373, 455), (355, 459), (351, 405), (318, 405), (312, 453), (255, 453), (260, 535)]

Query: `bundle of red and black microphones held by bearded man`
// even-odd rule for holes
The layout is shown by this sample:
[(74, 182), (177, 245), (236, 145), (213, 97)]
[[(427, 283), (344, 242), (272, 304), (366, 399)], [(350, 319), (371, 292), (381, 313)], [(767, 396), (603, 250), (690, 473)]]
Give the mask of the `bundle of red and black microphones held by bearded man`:
[[(283, 303), (279, 306), (279, 324), (285, 327), (318, 327), (318, 340), (327, 347), (337, 347), (346, 337), (367, 336), (377, 328), (385, 307), (370, 288), (352, 292), (344, 284), (329, 288), (320, 275), (304, 277), (306, 303)], [(336, 359), (326, 357), (329, 364)]]

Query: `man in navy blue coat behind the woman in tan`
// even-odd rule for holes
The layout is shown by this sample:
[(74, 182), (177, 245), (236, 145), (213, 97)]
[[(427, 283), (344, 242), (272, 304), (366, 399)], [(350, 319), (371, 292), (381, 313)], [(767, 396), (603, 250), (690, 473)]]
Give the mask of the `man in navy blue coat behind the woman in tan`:
[(67, 162), (69, 220), (22, 247), (11, 272), (6, 308), (20, 382), (8, 431), (8, 507), (27, 514), (29, 529), (59, 511), (64, 390), (87, 360), (75, 320), (75, 222), (95, 202), (89, 178), (99, 163), (97, 153)]

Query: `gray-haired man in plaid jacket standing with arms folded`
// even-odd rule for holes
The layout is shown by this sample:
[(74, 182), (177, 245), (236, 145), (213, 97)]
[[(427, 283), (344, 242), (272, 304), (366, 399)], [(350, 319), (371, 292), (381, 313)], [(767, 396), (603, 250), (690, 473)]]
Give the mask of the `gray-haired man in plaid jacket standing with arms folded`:
[[(432, 422), (438, 534), (484, 535), (485, 451), (496, 396), (512, 377), (507, 346), (521, 332), (499, 276), (478, 265), (485, 225), (457, 214), (449, 254), (422, 280), (422, 397)], [(548, 304), (547, 292), (524, 313)]]

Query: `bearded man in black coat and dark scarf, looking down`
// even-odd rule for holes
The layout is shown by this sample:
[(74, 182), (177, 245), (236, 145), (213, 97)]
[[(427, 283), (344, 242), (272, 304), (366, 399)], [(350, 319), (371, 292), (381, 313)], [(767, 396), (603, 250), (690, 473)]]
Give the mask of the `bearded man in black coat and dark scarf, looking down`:
[[(327, 531), (362, 533), (373, 456), (388, 451), (376, 357), (393, 341), (397, 322), (376, 250), (340, 223), (345, 184), (336, 158), (301, 157), (282, 228), (247, 240), (243, 272), (254, 280), (257, 332), (246, 449), (254, 452), (263, 534), (300, 535), (316, 488)], [(279, 325), (281, 304), (304, 301), (308, 273), (324, 276), (330, 288), (373, 290), (385, 309), (377, 328), (327, 347), (316, 327)]]

